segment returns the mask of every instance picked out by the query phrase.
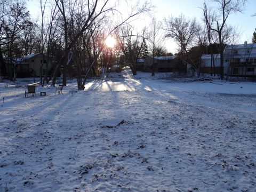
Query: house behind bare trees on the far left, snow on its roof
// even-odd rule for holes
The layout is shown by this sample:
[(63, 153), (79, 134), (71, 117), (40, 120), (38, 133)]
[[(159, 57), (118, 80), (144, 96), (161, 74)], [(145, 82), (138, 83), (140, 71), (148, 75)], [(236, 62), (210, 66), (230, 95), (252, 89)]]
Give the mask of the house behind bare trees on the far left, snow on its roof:
[(7, 76), (13, 78), (14, 73), (16, 77), (39, 77), (45, 74), (46, 62), (48, 61), (48, 74), (51, 74), (53, 69), (53, 59), (47, 59), (43, 53), (33, 53), (26, 55), (23, 58), (9, 58), (5, 59)]

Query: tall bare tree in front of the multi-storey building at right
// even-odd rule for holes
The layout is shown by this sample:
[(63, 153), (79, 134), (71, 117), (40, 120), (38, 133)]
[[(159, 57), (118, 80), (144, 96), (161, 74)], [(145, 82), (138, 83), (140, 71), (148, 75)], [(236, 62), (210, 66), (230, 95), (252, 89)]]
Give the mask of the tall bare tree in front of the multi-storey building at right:
[[(246, 0), (212, 0), (212, 2), (217, 4), (217, 7), (215, 7), (216, 11), (212, 12), (212, 15), (209, 15), (209, 17), (205, 17), (205, 20), (207, 19), (206, 23), (212, 23), (212, 25), (209, 26), (210, 29), (218, 34), (221, 67), (220, 77), (223, 79), (223, 52), (225, 49), (223, 31), (225, 31), (225, 28), (227, 27), (227, 19), (229, 15), (234, 12), (242, 12), (243, 5), (245, 4)], [(203, 10), (205, 14), (207, 11), (206, 4), (204, 4)], [(213, 21), (210, 19), (213, 19)]]

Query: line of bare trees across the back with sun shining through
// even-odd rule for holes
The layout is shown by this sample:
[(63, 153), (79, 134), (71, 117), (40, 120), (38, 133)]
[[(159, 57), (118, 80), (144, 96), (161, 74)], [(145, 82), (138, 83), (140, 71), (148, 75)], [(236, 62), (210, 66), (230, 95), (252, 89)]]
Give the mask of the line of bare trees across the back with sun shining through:
[[(67, 76), (76, 76), (78, 90), (83, 90), (89, 75), (99, 75), (101, 69), (109, 67), (114, 61), (130, 66), (135, 75), (139, 58), (146, 58), (149, 54), (153, 58), (155, 55), (171, 55), (163, 46), (165, 38), (174, 40), (183, 65), (189, 65), (197, 73), (202, 53), (220, 53), (223, 67), (225, 44), (234, 42), (238, 36), (238, 31), (228, 25), (227, 19), (233, 12), (242, 12), (245, 2), (214, 0), (209, 3), (211, 9), (206, 3), (201, 7), (203, 22), (183, 14), (163, 21), (153, 17), (149, 27), (138, 30), (132, 20), (152, 10), (147, 1), (118, 1), (112, 4), (109, 0), (41, 0), (41, 19), (35, 20), (27, 10), (26, 1), (2, 0), (1, 75), (5, 73), (4, 63), (10, 62), (8, 58), (44, 53), (46, 58), (54, 57), (57, 62), (51, 77), (46, 75), (47, 68), (41, 74), (42, 86), (50, 80), (54, 86), (61, 69), (64, 85)], [(126, 13), (118, 10), (121, 4), (127, 8)], [(106, 47), (104, 43), (110, 35), (117, 41), (115, 47)]]

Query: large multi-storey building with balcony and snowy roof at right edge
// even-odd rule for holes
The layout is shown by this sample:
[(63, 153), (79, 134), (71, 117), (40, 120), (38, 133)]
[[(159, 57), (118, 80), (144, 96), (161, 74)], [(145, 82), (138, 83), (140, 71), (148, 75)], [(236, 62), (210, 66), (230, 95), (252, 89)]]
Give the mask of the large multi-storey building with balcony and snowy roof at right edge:
[[(213, 54), (215, 73), (220, 74), (220, 55)], [(211, 55), (201, 56), (201, 73), (211, 73)], [(213, 72), (213, 71), (212, 71)], [(223, 53), (223, 73), (228, 76), (256, 77), (256, 44), (227, 45)]]

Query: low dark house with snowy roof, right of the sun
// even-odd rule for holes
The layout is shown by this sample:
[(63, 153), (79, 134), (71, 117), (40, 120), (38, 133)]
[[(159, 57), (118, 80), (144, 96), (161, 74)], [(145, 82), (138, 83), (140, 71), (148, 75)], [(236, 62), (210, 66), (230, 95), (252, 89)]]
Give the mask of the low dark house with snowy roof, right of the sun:
[(145, 59), (144, 70), (181, 73), (185, 68), (177, 56), (156, 56), (154, 62), (153, 57), (150, 56)]

